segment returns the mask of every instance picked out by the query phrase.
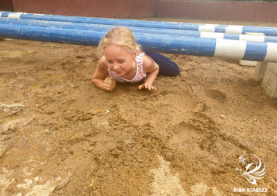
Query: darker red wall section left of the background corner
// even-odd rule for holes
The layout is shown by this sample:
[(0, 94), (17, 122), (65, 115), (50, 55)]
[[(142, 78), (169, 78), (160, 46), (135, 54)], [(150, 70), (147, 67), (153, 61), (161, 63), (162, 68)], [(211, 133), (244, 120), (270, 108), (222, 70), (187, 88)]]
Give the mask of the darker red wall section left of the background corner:
[(155, 0), (12, 0), (16, 12), (83, 17), (152, 17)]

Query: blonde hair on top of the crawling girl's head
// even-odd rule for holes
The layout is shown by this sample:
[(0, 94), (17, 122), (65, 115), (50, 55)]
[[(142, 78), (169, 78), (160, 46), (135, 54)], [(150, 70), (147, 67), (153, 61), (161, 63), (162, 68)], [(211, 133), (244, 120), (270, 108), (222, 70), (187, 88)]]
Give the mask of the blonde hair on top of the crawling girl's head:
[(102, 56), (105, 54), (105, 48), (112, 44), (125, 47), (131, 54), (142, 52), (141, 45), (136, 43), (134, 35), (129, 28), (118, 27), (107, 32), (107, 35), (99, 41), (98, 53)]

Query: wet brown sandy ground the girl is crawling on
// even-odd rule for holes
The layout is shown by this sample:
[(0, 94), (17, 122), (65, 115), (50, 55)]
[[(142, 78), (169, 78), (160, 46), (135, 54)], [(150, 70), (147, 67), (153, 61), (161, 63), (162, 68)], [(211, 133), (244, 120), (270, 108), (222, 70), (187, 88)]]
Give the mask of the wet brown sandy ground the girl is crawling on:
[[(95, 47), (0, 47), (0, 195), (277, 195), (277, 100), (253, 67), (167, 55), (179, 76), (109, 93), (91, 83)], [(241, 175), (244, 152), (266, 170), (256, 185)]]

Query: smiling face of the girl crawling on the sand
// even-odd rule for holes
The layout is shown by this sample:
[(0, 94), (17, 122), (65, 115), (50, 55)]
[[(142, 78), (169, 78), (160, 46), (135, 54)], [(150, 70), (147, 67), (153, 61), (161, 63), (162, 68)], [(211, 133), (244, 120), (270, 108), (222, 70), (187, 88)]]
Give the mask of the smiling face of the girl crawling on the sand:
[(107, 66), (120, 77), (128, 76), (134, 72), (133, 61), (136, 55), (132, 55), (127, 48), (112, 44), (105, 49)]

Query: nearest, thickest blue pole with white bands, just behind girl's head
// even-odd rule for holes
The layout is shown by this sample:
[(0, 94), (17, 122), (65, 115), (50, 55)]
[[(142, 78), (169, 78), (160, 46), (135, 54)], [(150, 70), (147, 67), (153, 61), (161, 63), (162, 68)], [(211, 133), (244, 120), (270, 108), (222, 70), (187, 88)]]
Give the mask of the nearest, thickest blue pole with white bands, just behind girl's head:
[[(0, 37), (73, 43), (87, 46), (97, 46), (98, 41), (106, 33), (107, 31), (101, 30), (76, 30), (71, 28), (0, 23)], [(204, 39), (139, 32), (134, 32), (134, 37), (143, 46), (144, 50), (183, 55), (277, 62), (277, 43)]]

